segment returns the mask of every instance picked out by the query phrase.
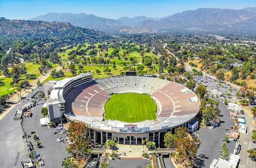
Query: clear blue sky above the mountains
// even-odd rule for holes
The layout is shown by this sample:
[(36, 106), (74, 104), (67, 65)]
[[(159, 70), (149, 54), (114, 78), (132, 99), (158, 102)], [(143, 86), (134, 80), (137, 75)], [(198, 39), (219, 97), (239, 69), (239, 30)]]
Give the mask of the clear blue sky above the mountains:
[(49, 12), (87, 13), (100, 17), (117, 19), (122, 16), (163, 17), (185, 10), (197, 8), (242, 9), (256, 7), (253, 0), (0, 0), (0, 17), (9, 19), (29, 19)]

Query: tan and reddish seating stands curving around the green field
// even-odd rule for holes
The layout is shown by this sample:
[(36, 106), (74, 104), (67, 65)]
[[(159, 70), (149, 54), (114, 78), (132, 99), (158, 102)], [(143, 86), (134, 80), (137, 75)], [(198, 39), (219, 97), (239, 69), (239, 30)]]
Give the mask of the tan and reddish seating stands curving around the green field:
[(79, 85), (65, 97), (66, 112), (103, 117), (102, 105), (112, 93), (148, 93), (160, 103), (158, 117), (197, 113), (200, 101), (195, 93), (174, 82), (141, 76), (98, 79)]

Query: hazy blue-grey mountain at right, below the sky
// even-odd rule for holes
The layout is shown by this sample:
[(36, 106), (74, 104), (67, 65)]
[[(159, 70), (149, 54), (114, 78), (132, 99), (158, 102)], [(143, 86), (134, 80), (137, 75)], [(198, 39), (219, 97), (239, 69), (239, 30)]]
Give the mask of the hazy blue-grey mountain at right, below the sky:
[[(256, 10), (256, 8), (254, 8)], [(255, 32), (256, 13), (252, 9), (203, 8), (171, 15), (159, 21), (143, 21), (137, 27), (158, 32), (193, 30), (210, 32)]]

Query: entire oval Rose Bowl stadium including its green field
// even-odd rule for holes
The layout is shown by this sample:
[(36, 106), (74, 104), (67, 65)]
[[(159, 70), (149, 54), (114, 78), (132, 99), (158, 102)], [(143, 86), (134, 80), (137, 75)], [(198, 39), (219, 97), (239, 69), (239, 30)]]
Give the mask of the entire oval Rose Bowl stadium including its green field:
[(82, 121), (95, 144), (116, 138), (123, 144), (143, 139), (163, 147), (167, 131), (195, 121), (200, 100), (180, 84), (152, 76), (116, 76), (94, 80), (81, 74), (57, 81), (47, 101), (50, 121)]

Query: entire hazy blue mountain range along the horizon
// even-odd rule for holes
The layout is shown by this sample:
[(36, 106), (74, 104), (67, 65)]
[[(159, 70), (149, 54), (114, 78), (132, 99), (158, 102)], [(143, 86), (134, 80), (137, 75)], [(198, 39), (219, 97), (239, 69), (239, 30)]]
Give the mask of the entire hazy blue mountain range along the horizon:
[(137, 16), (109, 19), (86, 13), (48, 13), (31, 20), (70, 22), (74, 26), (107, 33), (162, 33), (177, 30), (256, 33), (256, 7), (199, 8), (162, 18)]

